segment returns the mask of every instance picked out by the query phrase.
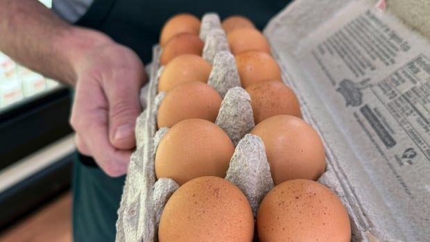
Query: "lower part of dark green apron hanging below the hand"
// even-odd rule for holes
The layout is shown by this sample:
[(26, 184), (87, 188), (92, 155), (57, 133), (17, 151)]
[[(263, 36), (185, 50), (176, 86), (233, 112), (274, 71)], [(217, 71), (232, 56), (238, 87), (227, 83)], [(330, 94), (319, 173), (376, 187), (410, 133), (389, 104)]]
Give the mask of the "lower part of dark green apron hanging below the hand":
[(125, 176), (110, 178), (91, 157), (76, 154), (74, 162), (74, 241), (114, 241)]

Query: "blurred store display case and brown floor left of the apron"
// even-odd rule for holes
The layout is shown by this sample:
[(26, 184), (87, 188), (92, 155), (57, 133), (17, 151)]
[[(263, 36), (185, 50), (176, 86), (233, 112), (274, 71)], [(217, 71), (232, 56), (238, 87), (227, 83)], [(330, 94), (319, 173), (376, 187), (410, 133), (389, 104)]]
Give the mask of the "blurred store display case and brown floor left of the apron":
[(1, 242), (71, 241), (70, 107), (68, 87), (0, 52)]

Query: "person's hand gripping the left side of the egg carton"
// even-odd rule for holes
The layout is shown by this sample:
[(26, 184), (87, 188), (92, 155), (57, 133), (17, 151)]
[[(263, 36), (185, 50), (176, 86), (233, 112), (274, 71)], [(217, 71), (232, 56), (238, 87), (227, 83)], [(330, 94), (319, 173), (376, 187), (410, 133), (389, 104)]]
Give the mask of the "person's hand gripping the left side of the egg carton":
[(85, 54), (76, 76), (70, 121), (76, 146), (80, 153), (94, 157), (107, 175), (123, 175), (136, 144), (144, 65), (133, 51), (109, 41)]

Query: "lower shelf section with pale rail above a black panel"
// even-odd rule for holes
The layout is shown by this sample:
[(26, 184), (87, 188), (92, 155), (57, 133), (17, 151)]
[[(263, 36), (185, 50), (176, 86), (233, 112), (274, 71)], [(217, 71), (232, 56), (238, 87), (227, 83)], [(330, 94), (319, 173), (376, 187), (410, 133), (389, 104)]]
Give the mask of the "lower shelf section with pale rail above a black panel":
[(0, 229), (69, 188), (74, 135), (0, 171)]

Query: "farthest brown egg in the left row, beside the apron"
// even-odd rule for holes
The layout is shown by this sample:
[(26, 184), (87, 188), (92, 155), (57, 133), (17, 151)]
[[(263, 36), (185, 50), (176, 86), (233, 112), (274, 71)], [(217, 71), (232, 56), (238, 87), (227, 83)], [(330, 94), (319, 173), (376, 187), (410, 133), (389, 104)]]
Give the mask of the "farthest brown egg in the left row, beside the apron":
[(179, 33), (198, 35), (199, 31), (200, 20), (196, 16), (188, 13), (175, 15), (164, 24), (160, 35), (160, 45), (164, 46), (171, 37)]

